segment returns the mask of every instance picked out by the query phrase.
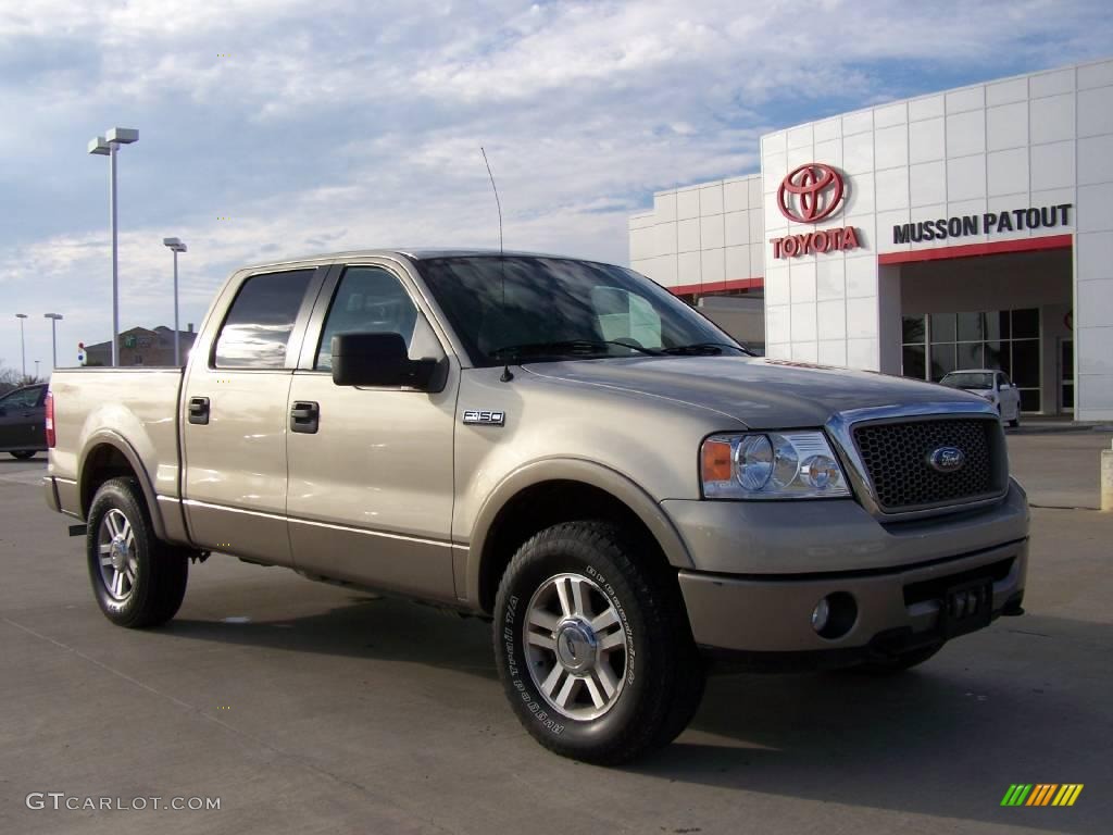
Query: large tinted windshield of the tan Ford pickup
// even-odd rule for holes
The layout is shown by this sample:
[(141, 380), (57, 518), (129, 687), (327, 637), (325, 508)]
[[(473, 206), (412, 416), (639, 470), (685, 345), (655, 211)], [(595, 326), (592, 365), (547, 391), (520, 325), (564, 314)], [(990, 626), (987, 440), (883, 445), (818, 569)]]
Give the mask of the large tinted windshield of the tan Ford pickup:
[(668, 291), (622, 267), (516, 255), (430, 258), (417, 267), (476, 366), (746, 353)]

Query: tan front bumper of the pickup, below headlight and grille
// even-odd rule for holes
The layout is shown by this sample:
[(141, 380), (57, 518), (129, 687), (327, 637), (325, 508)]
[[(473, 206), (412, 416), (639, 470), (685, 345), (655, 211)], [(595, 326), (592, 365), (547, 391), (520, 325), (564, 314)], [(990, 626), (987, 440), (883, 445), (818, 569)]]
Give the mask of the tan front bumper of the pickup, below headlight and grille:
[[(697, 568), (679, 571), (679, 580), (703, 648), (846, 662), (898, 654), (945, 639), (944, 592), (968, 580), (992, 580), (994, 617), (1020, 611), (1028, 512), (1015, 483), (991, 509), (888, 527), (850, 501), (733, 504), (745, 504), (741, 524), (726, 502), (687, 508), (703, 513), (695, 525), (690, 515), (686, 524), (684, 513), (671, 514)], [(730, 522), (711, 524), (708, 514)], [(825, 638), (812, 628), (811, 612), (836, 592), (853, 598), (854, 625)]]

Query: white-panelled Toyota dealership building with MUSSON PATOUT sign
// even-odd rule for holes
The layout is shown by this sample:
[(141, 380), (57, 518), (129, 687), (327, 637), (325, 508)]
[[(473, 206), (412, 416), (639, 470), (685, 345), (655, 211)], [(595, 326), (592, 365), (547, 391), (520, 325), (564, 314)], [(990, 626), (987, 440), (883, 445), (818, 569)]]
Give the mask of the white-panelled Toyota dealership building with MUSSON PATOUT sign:
[(1113, 419), (1113, 60), (767, 134), (759, 173), (654, 194), (630, 263), (770, 357)]

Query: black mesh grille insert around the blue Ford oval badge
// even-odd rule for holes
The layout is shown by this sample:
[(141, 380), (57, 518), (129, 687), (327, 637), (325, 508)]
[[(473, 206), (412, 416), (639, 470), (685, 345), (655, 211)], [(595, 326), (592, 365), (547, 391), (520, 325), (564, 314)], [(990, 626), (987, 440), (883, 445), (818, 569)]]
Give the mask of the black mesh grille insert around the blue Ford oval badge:
[[(977, 501), (1005, 490), (1004, 434), (996, 419), (863, 423), (853, 428), (853, 435), (877, 503), (887, 513)], [(963, 466), (954, 472), (933, 469), (928, 460), (942, 446), (962, 450)]]

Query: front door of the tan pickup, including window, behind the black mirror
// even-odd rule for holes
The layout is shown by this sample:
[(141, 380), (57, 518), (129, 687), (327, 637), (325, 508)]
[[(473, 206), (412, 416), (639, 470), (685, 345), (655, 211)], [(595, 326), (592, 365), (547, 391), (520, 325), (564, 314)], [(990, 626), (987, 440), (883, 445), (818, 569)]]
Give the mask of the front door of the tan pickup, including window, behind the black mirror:
[[(452, 600), (452, 434), (459, 370), (396, 266), (337, 267), (289, 393), (289, 539), (298, 570)], [(334, 334), (400, 333), (442, 361), (441, 391), (338, 386)]]

